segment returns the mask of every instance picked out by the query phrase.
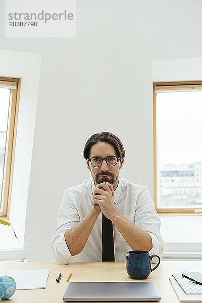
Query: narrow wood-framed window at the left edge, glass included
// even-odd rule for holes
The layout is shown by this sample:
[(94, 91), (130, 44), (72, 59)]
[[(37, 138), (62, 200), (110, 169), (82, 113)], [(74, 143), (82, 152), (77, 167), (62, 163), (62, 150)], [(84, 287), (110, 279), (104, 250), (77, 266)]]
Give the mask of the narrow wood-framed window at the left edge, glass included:
[(0, 217), (9, 218), (20, 79), (0, 77)]

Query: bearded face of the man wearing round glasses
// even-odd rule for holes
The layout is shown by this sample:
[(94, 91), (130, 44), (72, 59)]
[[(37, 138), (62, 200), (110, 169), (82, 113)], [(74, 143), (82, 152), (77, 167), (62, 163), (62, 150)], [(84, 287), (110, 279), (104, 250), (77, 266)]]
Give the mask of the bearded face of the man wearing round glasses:
[[(109, 156), (118, 157), (114, 146), (107, 142), (97, 142), (90, 148), (90, 159), (92, 157), (107, 158)], [(87, 168), (91, 172), (91, 176), (95, 181), (95, 185), (103, 182), (109, 182), (116, 187), (118, 185), (119, 170), (123, 166), (123, 162), (124, 160), (121, 162), (119, 160), (115, 166), (109, 166), (106, 161), (103, 160), (101, 166), (94, 167), (90, 161), (86, 161)]]

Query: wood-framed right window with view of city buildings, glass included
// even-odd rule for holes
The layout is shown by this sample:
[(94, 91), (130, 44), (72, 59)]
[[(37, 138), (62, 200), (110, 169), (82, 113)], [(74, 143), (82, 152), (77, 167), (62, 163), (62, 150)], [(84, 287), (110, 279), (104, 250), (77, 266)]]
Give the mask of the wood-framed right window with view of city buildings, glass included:
[[(154, 83), (154, 185), (160, 213), (202, 208), (202, 81)], [(165, 180), (171, 177), (171, 182)]]

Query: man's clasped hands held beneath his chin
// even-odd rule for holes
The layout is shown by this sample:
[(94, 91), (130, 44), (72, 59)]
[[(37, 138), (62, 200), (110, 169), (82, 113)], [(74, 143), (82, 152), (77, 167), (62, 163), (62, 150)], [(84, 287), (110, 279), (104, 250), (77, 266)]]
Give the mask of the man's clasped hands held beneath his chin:
[(92, 205), (94, 207), (97, 207), (96, 205), (98, 205), (100, 212), (102, 212), (110, 220), (117, 211), (113, 198), (114, 189), (112, 184), (109, 182), (103, 182), (95, 186)]

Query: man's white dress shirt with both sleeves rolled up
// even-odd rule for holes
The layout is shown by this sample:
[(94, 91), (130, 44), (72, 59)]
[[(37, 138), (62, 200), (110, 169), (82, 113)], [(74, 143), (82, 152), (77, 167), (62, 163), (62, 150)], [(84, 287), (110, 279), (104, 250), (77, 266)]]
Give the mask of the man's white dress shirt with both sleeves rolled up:
[[(76, 262), (102, 261), (102, 212), (92, 228), (89, 238), (76, 256), (71, 256), (68, 243), (65, 241), (65, 232), (76, 226), (92, 208), (94, 194), (94, 181), (92, 178), (82, 184), (65, 190), (62, 205), (59, 208), (57, 228), (53, 233), (52, 249), (55, 259), (60, 264)], [(135, 226), (148, 232), (152, 239), (150, 255), (162, 256), (163, 239), (160, 232), (160, 219), (146, 186), (119, 179), (114, 191), (114, 203), (117, 210)], [(122, 234), (113, 225), (115, 261), (125, 261), (126, 254), (131, 247)], [(153, 262), (157, 262), (154, 260)]]

